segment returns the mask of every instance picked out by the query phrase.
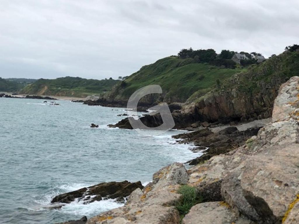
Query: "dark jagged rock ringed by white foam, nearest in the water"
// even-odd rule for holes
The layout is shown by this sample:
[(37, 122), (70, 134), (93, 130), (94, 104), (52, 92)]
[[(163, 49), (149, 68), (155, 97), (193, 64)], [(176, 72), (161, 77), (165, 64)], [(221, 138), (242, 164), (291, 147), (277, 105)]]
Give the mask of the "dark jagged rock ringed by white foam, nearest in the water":
[[(54, 197), (51, 203), (71, 203), (75, 199), (78, 199), (78, 201), (85, 201), (85, 204), (100, 201), (103, 198), (122, 200), (124, 197), (129, 196), (136, 188), (143, 189), (140, 181), (135, 183), (129, 181), (100, 183), (88, 188), (60, 194)], [(91, 197), (94, 195), (95, 197)]]

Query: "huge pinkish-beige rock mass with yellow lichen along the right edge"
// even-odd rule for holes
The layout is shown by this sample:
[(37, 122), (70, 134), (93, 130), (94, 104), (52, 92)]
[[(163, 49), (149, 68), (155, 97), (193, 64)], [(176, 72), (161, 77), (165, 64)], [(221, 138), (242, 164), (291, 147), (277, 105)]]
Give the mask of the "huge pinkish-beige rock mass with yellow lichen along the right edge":
[(296, 214), (291, 207), (299, 189), (299, 123), (294, 116), (298, 97), (295, 77), (279, 90), (273, 122), (237, 149), (236, 153), (248, 157), (222, 181), (225, 201), (253, 220), (277, 223)]

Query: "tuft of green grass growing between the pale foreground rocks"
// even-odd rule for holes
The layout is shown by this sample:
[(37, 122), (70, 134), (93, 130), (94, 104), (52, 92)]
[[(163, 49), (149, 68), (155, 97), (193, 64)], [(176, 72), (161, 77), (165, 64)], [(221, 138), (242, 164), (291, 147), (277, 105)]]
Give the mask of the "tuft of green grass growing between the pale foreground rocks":
[(189, 185), (182, 185), (178, 193), (182, 196), (176, 205), (176, 209), (181, 217), (184, 217), (194, 205), (202, 202), (202, 197), (197, 194), (196, 189)]

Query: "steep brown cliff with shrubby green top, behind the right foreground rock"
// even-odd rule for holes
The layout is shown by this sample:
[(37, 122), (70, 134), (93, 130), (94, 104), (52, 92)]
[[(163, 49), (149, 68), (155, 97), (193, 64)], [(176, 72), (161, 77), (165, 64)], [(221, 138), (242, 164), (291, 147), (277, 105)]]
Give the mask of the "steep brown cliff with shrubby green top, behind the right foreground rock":
[(299, 52), (284, 52), (246, 73), (239, 73), (205, 96), (186, 105), (182, 112), (201, 121), (229, 122), (271, 117), (280, 85), (298, 74)]

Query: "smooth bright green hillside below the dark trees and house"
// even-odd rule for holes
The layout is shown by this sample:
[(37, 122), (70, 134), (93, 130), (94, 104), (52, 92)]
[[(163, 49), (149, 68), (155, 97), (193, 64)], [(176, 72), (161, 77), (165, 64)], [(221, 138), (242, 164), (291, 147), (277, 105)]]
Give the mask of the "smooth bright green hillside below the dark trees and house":
[[(186, 65), (187, 64), (187, 65)], [(194, 92), (205, 94), (215, 85), (246, 69), (224, 69), (209, 64), (191, 63), (188, 59), (167, 57), (142, 67), (106, 96), (126, 100), (137, 89), (146, 85), (160, 85), (166, 102), (185, 102)]]

